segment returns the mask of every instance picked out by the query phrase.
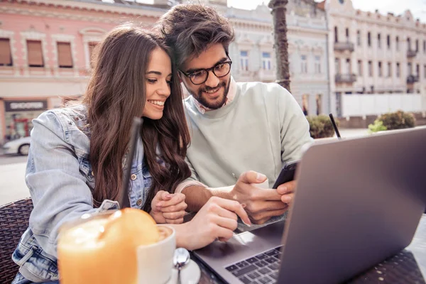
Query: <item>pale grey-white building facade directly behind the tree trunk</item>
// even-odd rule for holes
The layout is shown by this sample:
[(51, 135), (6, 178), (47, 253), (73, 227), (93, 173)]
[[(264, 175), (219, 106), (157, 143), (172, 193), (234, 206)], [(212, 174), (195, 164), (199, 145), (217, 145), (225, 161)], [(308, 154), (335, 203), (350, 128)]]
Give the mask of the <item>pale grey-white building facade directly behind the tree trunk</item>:
[[(274, 82), (276, 62), (271, 10), (229, 8), (236, 40), (230, 46), (237, 81)], [(307, 115), (328, 113), (330, 81), (327, 56), (327, 21), (314, 1), (290, 0), (287, 6), (291, 93)]]

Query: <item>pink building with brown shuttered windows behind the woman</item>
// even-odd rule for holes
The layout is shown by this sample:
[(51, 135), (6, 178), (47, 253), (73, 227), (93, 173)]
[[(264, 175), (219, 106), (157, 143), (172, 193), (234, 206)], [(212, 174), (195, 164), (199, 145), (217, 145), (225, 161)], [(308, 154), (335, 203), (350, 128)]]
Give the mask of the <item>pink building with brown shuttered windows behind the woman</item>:
[(0, 0), (0, 144), (84, 94), (92, 49), (107, 31), (126, 21), (151, 28), (167, 2)]

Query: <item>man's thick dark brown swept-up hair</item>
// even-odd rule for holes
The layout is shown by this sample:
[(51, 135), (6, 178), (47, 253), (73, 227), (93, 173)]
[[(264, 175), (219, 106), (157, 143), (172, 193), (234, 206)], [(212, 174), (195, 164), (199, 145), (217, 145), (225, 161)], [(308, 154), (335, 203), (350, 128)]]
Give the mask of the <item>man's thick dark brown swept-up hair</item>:
[(156, 28), (173, 49), (180, 68), (186, 60), (196, 58), (212, 44), (222, 43), (228, 55), (229, 43), (234, 40), (234, 28), (228, 19), (202, 4), (174, 6), (160, 18)]

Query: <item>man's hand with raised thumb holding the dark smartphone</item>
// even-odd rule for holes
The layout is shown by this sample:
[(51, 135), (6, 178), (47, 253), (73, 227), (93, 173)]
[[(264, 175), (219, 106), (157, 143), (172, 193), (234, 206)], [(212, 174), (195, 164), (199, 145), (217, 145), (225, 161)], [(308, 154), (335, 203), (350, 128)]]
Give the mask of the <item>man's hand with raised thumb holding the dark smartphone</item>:
[(263, 224), (273, 216), (284, 214), (288, 204), (281, 201), (277, 190), (256, 187), (266, 176), (252, 170), (242, 173), (234, 188), (229, 192), (232, 200), (246, 204), (246, 212), (253, 223)]

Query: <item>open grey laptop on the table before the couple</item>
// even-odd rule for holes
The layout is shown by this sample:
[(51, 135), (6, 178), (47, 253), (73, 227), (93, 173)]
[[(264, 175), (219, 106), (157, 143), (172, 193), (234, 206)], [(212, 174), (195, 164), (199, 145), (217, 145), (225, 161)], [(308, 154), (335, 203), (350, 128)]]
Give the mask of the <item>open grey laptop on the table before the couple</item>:
[(285, 224), (194, 254), (232, 284), (341, 283), (410, 244), (425, 211), (425, 169), (426, 129), (314, 145)]

